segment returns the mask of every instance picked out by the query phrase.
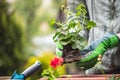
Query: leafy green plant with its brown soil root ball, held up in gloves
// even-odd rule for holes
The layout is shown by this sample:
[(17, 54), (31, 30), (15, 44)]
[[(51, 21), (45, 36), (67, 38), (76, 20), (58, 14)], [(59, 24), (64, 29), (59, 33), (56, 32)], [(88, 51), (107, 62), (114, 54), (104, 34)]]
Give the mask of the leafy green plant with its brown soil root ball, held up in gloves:
[[(80, 60), (80, 50), (85, 46), (85, 38), (79, 34), (80, 31), (90, 29), (96, 24), (86, 18), (86, 7), (81, 3), (76, 7), (76, 13), (71, 13), (63, 7), (67, 21), (65, 23), (55, 22), (59, 25), (53, 40), (56, 43), (56, 54), (64, 58), (64, 62)], [(62, 54), (63, 53), (63, 54)]]

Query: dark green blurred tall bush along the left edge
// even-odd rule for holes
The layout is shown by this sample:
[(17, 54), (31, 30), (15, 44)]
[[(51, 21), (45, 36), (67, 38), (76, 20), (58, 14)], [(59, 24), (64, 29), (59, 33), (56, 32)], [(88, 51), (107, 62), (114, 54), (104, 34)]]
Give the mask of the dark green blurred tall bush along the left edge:
[(25, 61), (24, 20), (9, 8), (6, 0), (0, 1), (0, 75), (5, 76), (20, 71)]

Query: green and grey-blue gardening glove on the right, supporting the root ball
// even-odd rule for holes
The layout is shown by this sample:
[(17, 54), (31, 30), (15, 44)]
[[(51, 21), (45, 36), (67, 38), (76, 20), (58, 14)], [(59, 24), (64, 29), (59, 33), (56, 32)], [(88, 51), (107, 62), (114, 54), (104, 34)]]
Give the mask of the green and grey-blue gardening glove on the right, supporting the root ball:
[(103, 55), (107, 49), (119, 45), (119, 41), (120, 40), (118, 36), (112, 32), (104, 35), (102, 38), (93, 41), (90, 45), (81, 51), (81, 55), (85, 55), (88, 52), (91, 52), (91, 54), (86, 58), (78, 61), (77, 65), (86, 68), (93, 67), (97, 62), (98, 55)]

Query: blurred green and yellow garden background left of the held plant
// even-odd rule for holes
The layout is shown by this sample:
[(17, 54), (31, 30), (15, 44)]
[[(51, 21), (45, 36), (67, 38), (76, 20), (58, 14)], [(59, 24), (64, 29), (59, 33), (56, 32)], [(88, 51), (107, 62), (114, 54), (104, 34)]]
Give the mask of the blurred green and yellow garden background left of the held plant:
[(0, 0), (0, 76), (21, 73), (40, 60), (44, 66), (29, 79), (41, 77), (55, 56), (52, 35), (57, 26), (51, 27), (49, 21), (65, 21), (61, 5), (66, 0)]

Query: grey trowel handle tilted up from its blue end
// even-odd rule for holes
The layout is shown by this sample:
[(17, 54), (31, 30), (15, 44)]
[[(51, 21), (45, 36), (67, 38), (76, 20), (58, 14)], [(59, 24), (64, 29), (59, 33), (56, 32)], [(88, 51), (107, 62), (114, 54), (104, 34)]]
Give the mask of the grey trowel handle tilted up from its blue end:
[(32, 66), (28, 67), (25, 71), (23, 71), (21, 74), (25, 76), (25, 78), (29, 77), (30, 75), (34, 74), (38, 69), (40, 68), (41, 63), (39, 61), (36, 61)]

